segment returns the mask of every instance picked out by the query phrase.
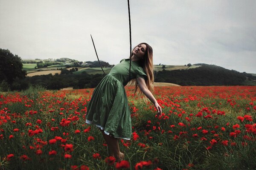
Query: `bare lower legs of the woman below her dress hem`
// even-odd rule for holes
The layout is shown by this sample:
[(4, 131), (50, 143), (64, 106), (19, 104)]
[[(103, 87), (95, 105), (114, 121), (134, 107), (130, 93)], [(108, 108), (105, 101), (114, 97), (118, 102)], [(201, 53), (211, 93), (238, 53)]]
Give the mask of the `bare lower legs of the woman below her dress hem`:
[(116, 158), (116, 161), (122, 161), (124, 159), (124, 154), (120, 152), (118, 139), (105, 134), (104, 130), (101, 131), (105, 141), (108, 144), (109, 154), (111, 156), (114, 156)]

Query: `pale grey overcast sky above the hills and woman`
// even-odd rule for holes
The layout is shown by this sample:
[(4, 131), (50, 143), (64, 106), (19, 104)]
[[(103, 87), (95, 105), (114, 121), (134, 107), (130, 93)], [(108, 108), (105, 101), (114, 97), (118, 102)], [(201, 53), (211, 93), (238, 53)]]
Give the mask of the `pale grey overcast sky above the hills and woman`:
[[(256, 73), (256, 0), (130, 0), (132, 48), (153, 64)], [(0, 48), (22, 59), (117, 64), (130, 53), (127, 0), (0, 0)]]

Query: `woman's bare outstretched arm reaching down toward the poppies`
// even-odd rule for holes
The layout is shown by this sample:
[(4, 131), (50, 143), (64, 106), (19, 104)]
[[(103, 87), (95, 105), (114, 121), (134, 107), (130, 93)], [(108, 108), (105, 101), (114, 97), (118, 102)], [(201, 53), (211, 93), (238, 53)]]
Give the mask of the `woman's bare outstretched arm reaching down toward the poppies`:
[(148, 90), (145, 79), (142, 77), (137, 78), (138, 85), (140, 87), (140, 90), (145, 94), (145, 96), (148, 97), (148, 99), (154, 103), (155, 108), (157, 109), (158, 114), (162, 113), (161, 106), (157, 103), (157, 100), (154, 98), (153, 94)]

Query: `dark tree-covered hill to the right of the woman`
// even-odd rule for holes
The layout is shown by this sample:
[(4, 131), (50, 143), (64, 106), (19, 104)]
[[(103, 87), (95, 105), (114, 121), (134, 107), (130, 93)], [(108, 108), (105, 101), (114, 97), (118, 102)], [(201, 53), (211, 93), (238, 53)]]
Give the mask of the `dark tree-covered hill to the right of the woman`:
[(178, 85), (242, 85), (246, 80), (246, 73), (228, 70), (217, 65), (201, 64), (201, 67), (187, 70), (163, 69), (158, 71), (155, 77), (156, 82)]

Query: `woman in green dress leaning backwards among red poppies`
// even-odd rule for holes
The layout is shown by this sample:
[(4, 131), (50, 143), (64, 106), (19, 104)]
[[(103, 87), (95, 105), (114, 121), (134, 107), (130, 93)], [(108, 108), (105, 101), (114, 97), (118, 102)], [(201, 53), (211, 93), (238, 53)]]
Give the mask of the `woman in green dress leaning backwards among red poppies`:
[(108, 144), (109, 154), (116, 161), (124, 159), (124, 154), (119, 150), (118, 138), (131, 138), (131, 113), (124, 88), (130, 80), (135, 82), (134, 94), (139, 86), (139, 94), (145, 94), (154, 103), (158, 115), (161, 114), (162, 109), (150, 92), (154, 91), (153, 50), (145, 42), (133, 49), (131, 59), (122, 59), (102, 79), (94, 89), (87, 107), (86, 123), (100, 128)]

